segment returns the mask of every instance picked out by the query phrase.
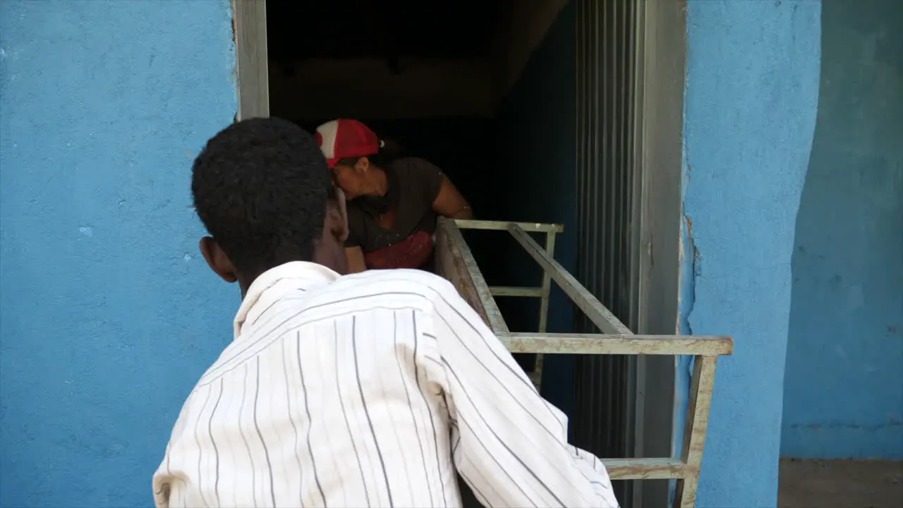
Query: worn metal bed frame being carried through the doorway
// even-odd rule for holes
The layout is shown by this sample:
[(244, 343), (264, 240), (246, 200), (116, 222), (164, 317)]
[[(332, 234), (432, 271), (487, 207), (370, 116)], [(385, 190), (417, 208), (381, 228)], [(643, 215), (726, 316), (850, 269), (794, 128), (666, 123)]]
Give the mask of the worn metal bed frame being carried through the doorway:
[[(461, 230), (507, 230), (541, 268), (539, 287), (489, 287), (470, 253)], [(545, 249), (529, 232), (545, 233)], [(436, 232), (436, 266), (442, 277), (452, 282), (465, 300), (489, 325), (511, 353), (536, 353), (536, 369), (531, 379), (537, 385), (544, 354), (673, 354), (695, 357), (690, 386), (689, 409), (684, 427), (681, 456), (661, 458), (603, 459), (612, 480), (677, 480), (675, 506), (689, 508), (696, 502), (699, 470), (703, 460), (705, 432), (712, 404), (712, 387), (718, 357), (733, 353), (729, 336), (714, 335), (638, 335), (611, 314), (599, 299), (583, 287), (554, 260), (555, 234), (561, 224), (509, 221), (460, 221), (442, 219)], [(546, 332), (549, 292), (552, 281), (571, 298), (601, 334), (550, 334)], [(536, 333), (512, 333), (498, 311), (495, 296), (541, 298), (539, 330)]]

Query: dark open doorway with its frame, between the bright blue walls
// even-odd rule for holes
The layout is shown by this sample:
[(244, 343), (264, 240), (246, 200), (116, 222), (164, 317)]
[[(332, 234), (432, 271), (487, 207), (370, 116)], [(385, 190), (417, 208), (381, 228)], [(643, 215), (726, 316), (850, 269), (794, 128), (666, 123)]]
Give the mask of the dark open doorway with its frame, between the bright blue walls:
[[(635, 333), (676, 333), (680, 0), (233, 5), (239, 118), (309, 130), (358, 118), (442, 167), (479, 218), (563, 222), (565, 268)], [(561, 53), (548, 54), (553, 42)], [(540, 58), (558, 65), (536, 70)], [(513, 240), (473, 235), (490, 285), (535, 285), (538, 270)], [(565, 302), (553, 293), (551, 331), (598, 332)], [(498, 304), (512, 329), (535, 330), (535, 302)], [(543, 394), (568, 414), (574, 445), (608, 457), (672, 454), (673, 358), (556, 361)], [(666, 481), (616, 487), (624, 506), (667, 503)]]

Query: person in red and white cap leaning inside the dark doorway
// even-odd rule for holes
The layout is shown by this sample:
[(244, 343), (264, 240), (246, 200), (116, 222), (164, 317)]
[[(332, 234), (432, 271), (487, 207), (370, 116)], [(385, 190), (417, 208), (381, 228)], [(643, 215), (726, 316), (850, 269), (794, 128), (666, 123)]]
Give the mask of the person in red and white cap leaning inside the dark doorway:
[(358, 120), (317, 127), (317, 143), (348, 200), (349, 272), (420, 268), (433, 271), (439, 217), (470, 219), (470, 204), (436, 165), (391, 158), (385, 142)]

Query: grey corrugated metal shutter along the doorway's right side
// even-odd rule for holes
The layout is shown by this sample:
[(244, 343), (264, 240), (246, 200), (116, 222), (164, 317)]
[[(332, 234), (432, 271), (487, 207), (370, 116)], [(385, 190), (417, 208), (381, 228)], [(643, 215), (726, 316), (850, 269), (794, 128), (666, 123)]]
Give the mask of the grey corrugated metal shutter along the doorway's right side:
[[(638, 321), (638, 0), (577, 0), (576, 277), (631, 330)], [(600, 333), (580, 315), (575, 328)], [(635, 357), (578, 357), (574, 444), (633, 455)], [(616, 485), (630, 505), (626, 485)]]

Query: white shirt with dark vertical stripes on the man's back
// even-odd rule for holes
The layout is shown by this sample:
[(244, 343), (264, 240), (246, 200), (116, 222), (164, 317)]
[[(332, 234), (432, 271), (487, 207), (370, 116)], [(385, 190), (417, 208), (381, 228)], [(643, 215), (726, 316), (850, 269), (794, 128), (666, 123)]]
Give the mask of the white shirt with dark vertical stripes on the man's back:
[(293, 262), (182, 407), (166, 506), (617, 506), (604, 466), (452, 285)]

